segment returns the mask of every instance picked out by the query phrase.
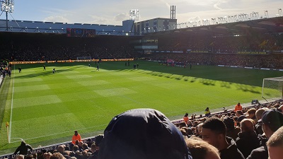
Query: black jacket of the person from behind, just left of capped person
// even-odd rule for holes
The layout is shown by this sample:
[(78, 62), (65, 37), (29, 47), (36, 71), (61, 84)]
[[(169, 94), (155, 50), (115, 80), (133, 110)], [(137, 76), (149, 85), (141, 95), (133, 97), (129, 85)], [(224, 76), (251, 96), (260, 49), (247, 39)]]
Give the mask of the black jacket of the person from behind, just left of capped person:
[(247, 158), (253, 149), (260, 147), (260, 138), (255, 131), (240, 132), (236, 144), (243, 156)]

